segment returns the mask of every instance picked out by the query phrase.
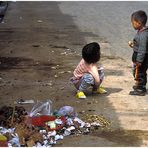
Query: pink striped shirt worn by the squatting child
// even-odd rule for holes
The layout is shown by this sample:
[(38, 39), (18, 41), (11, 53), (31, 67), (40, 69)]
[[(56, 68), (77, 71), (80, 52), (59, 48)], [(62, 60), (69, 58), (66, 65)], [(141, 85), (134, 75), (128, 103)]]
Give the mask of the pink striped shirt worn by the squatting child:
[(74, 70), (73, 74), (76, 79), (81, 79), (81, 77), (85, 73), (90, 73), (95, 79), (95, 84), (100, 83), (97, 63), (95, 64), (87, 64), (84, 59), (80, 61), (80, 63), (77, 65), (76, 69)]

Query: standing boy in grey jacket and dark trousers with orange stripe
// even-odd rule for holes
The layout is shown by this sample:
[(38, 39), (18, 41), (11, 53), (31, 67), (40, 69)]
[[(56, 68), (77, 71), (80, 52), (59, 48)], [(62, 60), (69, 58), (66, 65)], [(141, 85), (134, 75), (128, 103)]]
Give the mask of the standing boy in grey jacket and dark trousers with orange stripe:
[(147, 14), (136, 11), (131, 15), (132, 26), (137, 30), (133, 42), (129, 41), (129, 46), (133, 48), (133, 74), (135, 85), (130, 95), (144, 96), (146, 94), (147, 69), (148, 69), (148, 27), (146, 27)]

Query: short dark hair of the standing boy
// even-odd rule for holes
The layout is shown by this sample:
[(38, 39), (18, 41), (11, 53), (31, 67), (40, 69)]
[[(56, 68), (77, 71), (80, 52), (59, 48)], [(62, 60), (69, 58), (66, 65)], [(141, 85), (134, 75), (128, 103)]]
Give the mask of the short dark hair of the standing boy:
[(134, 19), (135, 21), (141, 22), (143, 26), (146, 25), (147, 14), (143, 10), (139, 10), (139, 11), (134, 12), (131, 15), (131, 18)]

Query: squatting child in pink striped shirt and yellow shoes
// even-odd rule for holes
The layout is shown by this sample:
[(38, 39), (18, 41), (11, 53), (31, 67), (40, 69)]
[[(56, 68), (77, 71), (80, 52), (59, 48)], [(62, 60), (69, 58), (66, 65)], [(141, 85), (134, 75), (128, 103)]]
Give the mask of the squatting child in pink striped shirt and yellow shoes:
[(73, 72), (71, 82), (77, 89), (77, 98), (86, 98), (85, 92), (90, 86), (95, 93), (106, 93), (101, 87), (104, 78), (103, 68), (98, 69), (97, 62), (100, 60), (100, 45), (96, 42), (85, 45), (82, 49), (82, 59)]

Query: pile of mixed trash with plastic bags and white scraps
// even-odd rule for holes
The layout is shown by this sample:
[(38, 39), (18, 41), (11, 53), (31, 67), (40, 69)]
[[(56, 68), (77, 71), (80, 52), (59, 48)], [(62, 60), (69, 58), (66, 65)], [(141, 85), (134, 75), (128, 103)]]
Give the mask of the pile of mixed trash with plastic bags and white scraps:
[(71, 106), (52, 112), (50, 100), (38, 102), (29, 113), (23, 106), (4, 106), (0, 108), (0, 147), (51, 147), (66, 136), (89, 134), (109, 125), (103, 116), (86, 115), (84, 120)]

